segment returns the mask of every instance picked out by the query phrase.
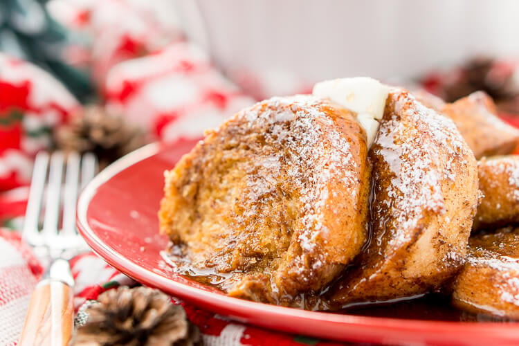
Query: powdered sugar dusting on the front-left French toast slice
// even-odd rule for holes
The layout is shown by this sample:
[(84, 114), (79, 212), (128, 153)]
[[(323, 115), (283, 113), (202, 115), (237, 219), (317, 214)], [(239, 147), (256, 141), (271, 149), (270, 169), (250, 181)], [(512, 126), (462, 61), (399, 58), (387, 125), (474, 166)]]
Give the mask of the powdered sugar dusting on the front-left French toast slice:
[[(322, 212), (333, 194), (328, 188), (330, 179), (340, 179), (352, 187), (352, 193), (357, 193), (355, 187), (358, 183), (352, 172), (356, 161), (347, 139), (322, 109), (322, 100), (307, 95), (272, 98), (237, 116), (243, 117), (251, 127), (269, 126), (268, 131), (262, 131), (262, 134), (266, 152), (271, 156), (251, 163), (248, 168), (247, 199), (261, 201), (277, 188), (278, 176), (286, 174), (291, 184), (298, 188), (296, 202), (302, 215), (302, 227), (294, 232), (303, 250), (301, 256), (312, 254), (315, 259), (318, 255), (316, 246), (322, 246), (329, 232), (323, 224)], [(268, 146), (272, 143), (285, 150), (269, 151)], [(257, 206), (260, 204), (251, 205), (252, 208), (245, 212), (246, 217), (258, 215)], [(304, 258), (301, 258), (301, 263), (305, 263)], [(322, 262), (313, 260), (312, 266), (318, 270)]]

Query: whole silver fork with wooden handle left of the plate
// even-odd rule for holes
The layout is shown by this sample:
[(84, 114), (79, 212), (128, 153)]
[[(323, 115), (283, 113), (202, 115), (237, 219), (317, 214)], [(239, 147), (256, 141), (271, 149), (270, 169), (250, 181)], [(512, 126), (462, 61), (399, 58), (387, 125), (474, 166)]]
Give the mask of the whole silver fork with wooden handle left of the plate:
[[(68, 345), (73, 329), (74, 284), (68, 259), (86, 249), (75, 228), (78, 192), (94, 176), (93, 154), (36, 156), (22, 237), (47, 261), (48, 271), (30, 298), (18, 345)], [(47, 179), (48, 177), (48, 179)], [(39, 220), (44, 207), (43, 226)], [(60, 225), (60, 210), (63, 209)]]

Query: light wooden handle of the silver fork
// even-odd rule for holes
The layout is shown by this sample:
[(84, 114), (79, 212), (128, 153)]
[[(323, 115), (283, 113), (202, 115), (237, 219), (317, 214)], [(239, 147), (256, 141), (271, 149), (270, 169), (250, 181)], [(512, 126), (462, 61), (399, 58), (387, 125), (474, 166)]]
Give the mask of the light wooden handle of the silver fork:
[(71, 286), (53, 279), (39, 282), (30, 298), (18, 345), (69, 345), (73, 315)]

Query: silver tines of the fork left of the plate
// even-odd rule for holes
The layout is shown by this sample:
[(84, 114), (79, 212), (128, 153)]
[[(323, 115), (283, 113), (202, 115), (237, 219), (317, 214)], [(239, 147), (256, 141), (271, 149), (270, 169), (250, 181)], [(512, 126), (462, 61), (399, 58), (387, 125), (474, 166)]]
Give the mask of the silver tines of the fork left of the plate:
[[(78, 192), (93, 178), (97, 165), (97, 159), (91, 153), (82, 157), (75, 152), (37, 154), (22, 233), (26, 242), (33, 246), (51, 246), (57, 235), (76, 234), (75, 204)], [(40, 227), (42, 209), (44, 221), (43, 227)], [(63, 218), (60, 226), (61, 210)]]

